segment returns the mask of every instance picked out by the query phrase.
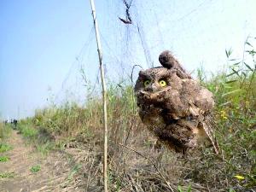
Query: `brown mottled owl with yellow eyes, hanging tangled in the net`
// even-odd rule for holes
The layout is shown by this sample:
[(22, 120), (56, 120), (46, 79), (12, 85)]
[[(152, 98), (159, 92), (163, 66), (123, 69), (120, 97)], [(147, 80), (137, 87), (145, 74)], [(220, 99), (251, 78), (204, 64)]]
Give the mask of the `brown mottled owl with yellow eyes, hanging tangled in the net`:
[(159, 56), (163, 67), (140, 71), (134, 92), (143, 124), (161, 143), (177, 153), (210, 143), (213, 137), (212, 92), (202, 87), (168, 50)]

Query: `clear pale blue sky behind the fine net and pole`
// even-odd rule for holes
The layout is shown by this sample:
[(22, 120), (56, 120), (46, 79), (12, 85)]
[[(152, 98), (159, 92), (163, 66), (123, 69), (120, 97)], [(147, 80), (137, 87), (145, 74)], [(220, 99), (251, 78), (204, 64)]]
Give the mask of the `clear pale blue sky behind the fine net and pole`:
[[(225, 49), (241, 58), (247, 36), (256, 37), (254, 0), (133, 0), (132, 25), (118, 19), (125, 18), (123, 1), (95, 2), (109, 81), (127, 79), (135, 64), (158, 66), (164, 49), (189, 72), (202, 66), (217, 73), (227, 63)], [(0, 27), (0, 119), (86, 102), (98, 86), (89, 0), (2, 0)]]

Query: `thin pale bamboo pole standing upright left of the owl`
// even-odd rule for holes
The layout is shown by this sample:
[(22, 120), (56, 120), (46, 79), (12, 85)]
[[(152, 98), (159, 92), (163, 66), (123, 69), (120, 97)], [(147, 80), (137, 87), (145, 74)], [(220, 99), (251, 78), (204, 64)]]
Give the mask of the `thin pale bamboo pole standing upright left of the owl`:
[(103, 102), (103, 118), (104, 118), (104, 160), (103, 160), (103, 177), (104, 177), (104, 192), (108, 192), (108, 119), (107, 119), (107, 91), (105, 84), (104, 67), (102, 65), (102, 44), (98, 32), (98, 24), (96, 20), (96, 9), (94, 0), (90, 0), (91, 15), (94, 22), (96, 33), (96, 43), (100, 62), (101, 79), (102, 79), (102, 102)]

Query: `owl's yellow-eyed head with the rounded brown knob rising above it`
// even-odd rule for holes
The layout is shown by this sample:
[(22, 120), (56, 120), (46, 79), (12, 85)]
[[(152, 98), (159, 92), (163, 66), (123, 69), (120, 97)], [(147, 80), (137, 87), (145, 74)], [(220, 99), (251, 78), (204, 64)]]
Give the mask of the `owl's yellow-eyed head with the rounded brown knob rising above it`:
[(178, 61), (169, 50), (163, 51), (159, 56), (163, 67), (153, 67), (140, 71), (135, 84), (135, 93), (138, 102), (152, 104), (165, 97), (165, 92), (179, 90), (183, 79), (189, 79)]

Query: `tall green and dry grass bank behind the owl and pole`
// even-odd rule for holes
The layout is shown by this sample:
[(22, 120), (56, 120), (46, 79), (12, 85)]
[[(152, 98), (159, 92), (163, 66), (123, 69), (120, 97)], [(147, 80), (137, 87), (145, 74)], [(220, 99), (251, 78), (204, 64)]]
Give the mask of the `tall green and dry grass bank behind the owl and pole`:
[[(216, 137), (222, 149), (195, 151), (187, 158), (154, 148), (154, 137), (138, 118), (132, 86), (108, 84), (108, 183), (111, 191), (246, 191), (256, 187), (256, 62), (247, 41), (241, 61), (226, 50), (229, 71), (201, 84), (216, 100)], [(67, 102), (36, 111), (20, 122), (21, 134), (37, 148), (79, 148), (70, 178), (85, 177), (87, 189), (102, 189), (102, 101), (88, 96), (85, 106)], [(41, 147), (40, 147), (41, 146)], [(42, 147), (44, 146), (44, 147)], [(42, 149), (44, 151), (44, 149)], [(83, 178), (84, 179), (84, 178)], [(100, 184), (99, 184), (100, 183)]]

